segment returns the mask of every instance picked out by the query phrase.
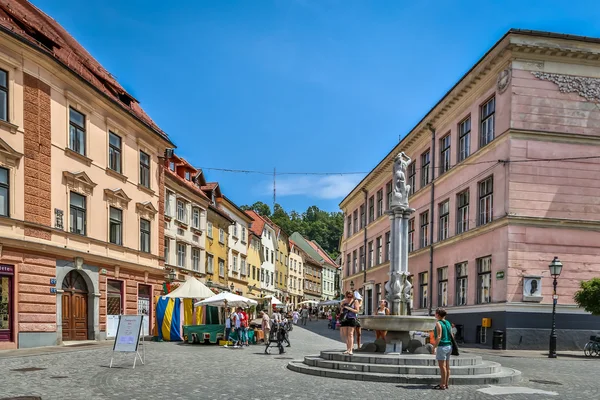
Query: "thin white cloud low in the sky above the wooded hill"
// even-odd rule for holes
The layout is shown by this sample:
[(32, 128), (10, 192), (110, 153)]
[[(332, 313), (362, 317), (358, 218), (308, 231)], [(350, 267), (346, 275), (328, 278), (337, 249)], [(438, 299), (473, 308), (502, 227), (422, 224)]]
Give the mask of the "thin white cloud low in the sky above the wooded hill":
[[(362, 178), (362, 175), (286, 176), (277, 179), (277, 196), (343, 198)], [(273, 182), (268, 184), (268, 192), (273, 192)]]

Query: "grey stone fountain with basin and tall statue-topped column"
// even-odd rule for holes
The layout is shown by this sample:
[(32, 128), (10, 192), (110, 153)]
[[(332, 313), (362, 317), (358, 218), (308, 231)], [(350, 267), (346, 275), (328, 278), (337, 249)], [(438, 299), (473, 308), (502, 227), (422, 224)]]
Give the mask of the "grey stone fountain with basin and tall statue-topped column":
[[(408, 220), (413, 208), (408, 205), (410, 185), (406, 182), (406, 169), (410, 158), (400, 153), (394, 159), (393, 192), (390, 209), (390, 279), (385, 287), (390, 315), (365, 315), (360, 324), (365, 329), (387, 331), (388, 350), (402, 352), (408, 348), (410, 331), (430, 331), (435, 318), (408, 315), (410, 289), (408, 280)], [(365, 346), (369, 348), (369, 346)]]

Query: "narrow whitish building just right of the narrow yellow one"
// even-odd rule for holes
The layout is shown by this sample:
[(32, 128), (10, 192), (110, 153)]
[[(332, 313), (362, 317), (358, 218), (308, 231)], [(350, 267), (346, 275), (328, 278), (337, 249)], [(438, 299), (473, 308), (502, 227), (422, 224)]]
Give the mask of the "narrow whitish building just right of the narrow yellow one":
[[(248, 232), (252, 218), (225, 196), (217, 200), (219, 209), (229, 215), (229, 281), (240, 296), (248, 293)], [(230, 283), (230, 285), (231, 285)]]

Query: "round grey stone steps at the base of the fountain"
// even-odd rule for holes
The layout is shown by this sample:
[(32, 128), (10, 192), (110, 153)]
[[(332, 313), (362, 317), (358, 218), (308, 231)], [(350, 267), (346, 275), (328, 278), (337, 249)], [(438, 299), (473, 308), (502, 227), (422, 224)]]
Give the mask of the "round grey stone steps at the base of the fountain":
[[(320, 356), (307, 356), (302, 362), (292, 361), (288, 368), (309, 375), (359, 381), (439, 382), (437, 361), (432, 355), (362, 353), (347, 356), (339, 351), (323, 351)], [(451, 357), (450, 368), (450, 384), (453, 385), (504, 384), (521, 379), (521, 372), (483, 361), (479, 356)]]

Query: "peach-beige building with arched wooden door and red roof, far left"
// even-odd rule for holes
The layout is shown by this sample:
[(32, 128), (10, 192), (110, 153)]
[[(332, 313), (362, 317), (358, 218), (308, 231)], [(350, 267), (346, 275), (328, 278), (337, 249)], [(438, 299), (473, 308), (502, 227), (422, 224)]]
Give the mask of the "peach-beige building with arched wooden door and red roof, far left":
[(11, 11), (0, 22), (0, 349), (104, 339), (122, 313), (147, 314), (149, 333), (164, 280), (160, 159), (174, 146), (54, 20), (25, 1)]

